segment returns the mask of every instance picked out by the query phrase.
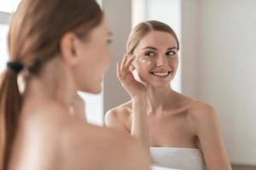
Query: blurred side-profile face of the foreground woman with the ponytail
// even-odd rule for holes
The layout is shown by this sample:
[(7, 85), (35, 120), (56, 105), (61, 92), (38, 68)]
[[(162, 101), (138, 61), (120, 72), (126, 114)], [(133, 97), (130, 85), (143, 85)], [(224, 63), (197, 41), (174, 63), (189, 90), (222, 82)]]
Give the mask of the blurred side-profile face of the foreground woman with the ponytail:
[(90, 32), (88, 41), (77, 44), (79, 64), (75, 68), (75, 81), (81, 91), (102, 92), (103, 75), (111, 64), (109, 42), (111, 33), (106, 20)]

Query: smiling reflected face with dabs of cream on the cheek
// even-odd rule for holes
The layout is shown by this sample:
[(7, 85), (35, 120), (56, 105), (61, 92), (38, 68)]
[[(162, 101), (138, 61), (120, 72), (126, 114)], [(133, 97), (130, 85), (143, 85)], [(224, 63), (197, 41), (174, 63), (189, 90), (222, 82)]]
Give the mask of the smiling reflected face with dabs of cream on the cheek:
[(172, 34), (149, 31), (138, 43), (133, 61), (138, 76), (153, 87), (170, 86), (177, 71), (177, 42)]

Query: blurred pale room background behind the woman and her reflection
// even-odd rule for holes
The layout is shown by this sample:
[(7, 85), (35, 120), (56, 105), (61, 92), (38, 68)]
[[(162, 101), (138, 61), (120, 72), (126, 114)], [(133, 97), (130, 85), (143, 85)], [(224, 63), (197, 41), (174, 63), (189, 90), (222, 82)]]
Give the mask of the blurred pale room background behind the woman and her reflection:
[[(100, 0), (113, 31), (113, 65), (100, 95), (80, 93), (87, 118), (102, 125), (104, 113), (129, 100), (116, 78), (133, 26), (160, 20), (181, 42), (172, 88), (212, 105), (235, 170), (256, 170), (256, 1)], [(0, 0), (0, 72), (8, 60), (7, 33), (20, 0)]]

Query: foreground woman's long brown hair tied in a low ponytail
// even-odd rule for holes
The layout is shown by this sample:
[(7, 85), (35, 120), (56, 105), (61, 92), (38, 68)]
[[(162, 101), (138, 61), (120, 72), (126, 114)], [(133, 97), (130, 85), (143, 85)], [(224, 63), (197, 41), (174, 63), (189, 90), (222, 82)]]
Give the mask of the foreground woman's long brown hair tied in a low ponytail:
[[(9, 60), (37, 76), (40, 66), (60, 53), (64, 34), (73, 31), (84, 39), (101, 20), (95, 0), (22, 0), (10, 25)], [(6, 69), (0, 79), (0, 169), (7, 169), (22, 106), (17, 77)]]

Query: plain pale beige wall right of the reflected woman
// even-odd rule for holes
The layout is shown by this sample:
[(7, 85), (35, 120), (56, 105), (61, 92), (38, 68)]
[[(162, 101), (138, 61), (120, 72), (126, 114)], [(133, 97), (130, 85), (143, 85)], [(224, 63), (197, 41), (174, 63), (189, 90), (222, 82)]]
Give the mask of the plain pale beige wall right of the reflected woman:
[(183, 93), (218, 112), (230, 160), (256, 165), (256, 1), (183, 0)]

